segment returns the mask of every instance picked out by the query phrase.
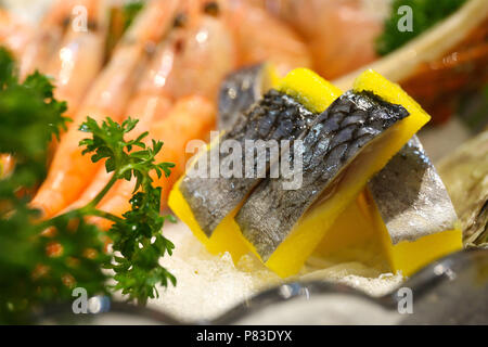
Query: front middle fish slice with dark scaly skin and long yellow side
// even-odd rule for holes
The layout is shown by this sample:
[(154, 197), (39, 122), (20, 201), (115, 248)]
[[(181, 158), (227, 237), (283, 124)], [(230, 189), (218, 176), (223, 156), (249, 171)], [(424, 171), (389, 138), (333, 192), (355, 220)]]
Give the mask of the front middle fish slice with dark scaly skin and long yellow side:
[(335, 219), (429, 116), (378, 74), (364, 72), (305, 137), (304, 184), (284, 191), (268, 179), (236, 223), (253, 250), (281, 277), (299, 271)]

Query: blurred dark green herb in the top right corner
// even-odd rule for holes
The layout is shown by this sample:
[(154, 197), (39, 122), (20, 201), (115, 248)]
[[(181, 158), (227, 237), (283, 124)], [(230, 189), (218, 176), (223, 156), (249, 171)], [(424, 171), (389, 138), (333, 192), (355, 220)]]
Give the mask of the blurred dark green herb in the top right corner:
[[(385, 21), (384, 31), (376, 40), (376, 52), (386, 55), (402, 47), (413, 38), (454, 13), (466, 0), (394, 0), (391, 14)], [(412, 9), (412, 31), (400, 31), (398, 22), (404, 14), (398, 9), (408, 5)]]

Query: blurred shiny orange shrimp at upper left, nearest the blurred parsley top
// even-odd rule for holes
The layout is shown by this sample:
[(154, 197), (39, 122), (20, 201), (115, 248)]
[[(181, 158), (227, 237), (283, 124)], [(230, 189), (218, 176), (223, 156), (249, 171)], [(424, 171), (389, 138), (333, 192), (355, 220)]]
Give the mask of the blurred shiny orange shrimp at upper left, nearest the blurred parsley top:
[(87, 9), (88, 28), (67, 29), (61, 48), (46, 69), (53, 77), (55, 98), (67, 102), (68, 115), (76, 112), (102, 69), (108, 20), (106, 0), (79, 0), (78, 4)]

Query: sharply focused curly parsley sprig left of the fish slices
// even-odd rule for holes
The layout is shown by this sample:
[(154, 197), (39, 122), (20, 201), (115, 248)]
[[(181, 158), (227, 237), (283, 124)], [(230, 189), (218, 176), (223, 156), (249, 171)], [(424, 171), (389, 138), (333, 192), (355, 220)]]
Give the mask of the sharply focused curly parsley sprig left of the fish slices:
[(114, 220), (108, 234), (113, 241), (113, 250), (121, 255), (114, 256), (105, 268), (115, 272), (114, 290), (145, 304), (147, 298), (156, 297), (157, 284), (167, 286), (168, 282), (176, 285), (175, 277), (159, 265), (159, 257), (171, 255), (175, 245), (164, 237), (160, 230), (166, 219), (160, 216), (159, 187), (153, 187), (151, 174), (154, 171), (160, 178), (169, 177), (171, 163), (155, 163), (156, 155), (163, 149), (163, 142), (152, 140), (152, 146), (146, 146), (143, 140), (149, 136), (142, 133), (136, 140), (126, 141), (125, 136), (131, 131), (138, 120), (127, 119), (121, 125), (112, 119), (105, 120), (101, 126), (92, 118), (88, 118), (80, 130), (90, 132), (92, 138), (85, 139), (80, 145), (86, 146), (85, 154), (92, 153), (92, 162), (105, 159), (107, 172), (113, 172), (111, 181), (94, 198), (90, 206), (97, 206), (104, 192), (120, 179), (130, 181), (136, 179), (134, 194), (130, 200), (132, 209), (123, 218), (103, 216)]

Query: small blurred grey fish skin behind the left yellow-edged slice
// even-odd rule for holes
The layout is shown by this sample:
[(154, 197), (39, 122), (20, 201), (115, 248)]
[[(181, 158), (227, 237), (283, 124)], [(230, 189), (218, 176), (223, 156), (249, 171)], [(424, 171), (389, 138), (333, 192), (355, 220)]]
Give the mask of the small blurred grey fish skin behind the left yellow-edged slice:
[(261, 99), (264, 73), (265, 65), (259, 64), (244, 67), (226, 78), (219, 93), (219, 129), (232, 128), (236, 119)]

